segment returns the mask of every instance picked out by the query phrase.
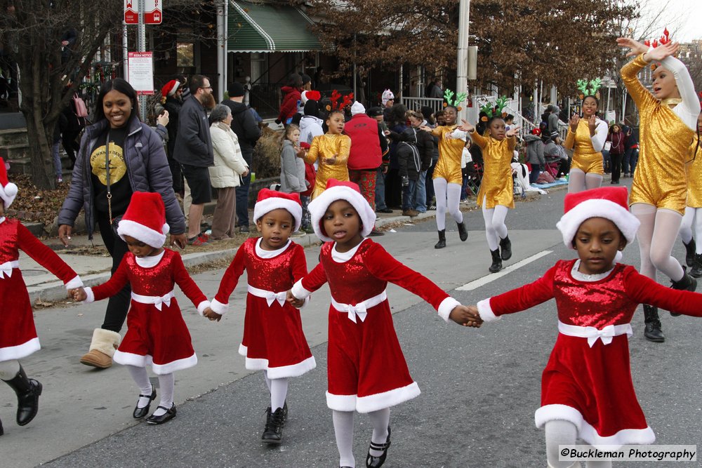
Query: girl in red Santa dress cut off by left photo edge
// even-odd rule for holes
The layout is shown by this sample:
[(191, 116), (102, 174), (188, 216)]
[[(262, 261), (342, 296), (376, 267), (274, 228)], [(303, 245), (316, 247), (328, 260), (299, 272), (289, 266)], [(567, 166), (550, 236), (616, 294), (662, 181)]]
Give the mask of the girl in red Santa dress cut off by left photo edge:
[(58, 276), (68, 290), (81, 288), (83, 283), (71, 267), (22, 223), (5, 218), (5, 210), (16, 195), (17, 185), (8, 181), (5, 163), (0, 160), (0, 380), (17, 394), (17, 424), (24, 426), (37, 415), (41, 384), (28, 379), (18, 361), (39, 350), (32, 305), (20, 272), (19, 251)]

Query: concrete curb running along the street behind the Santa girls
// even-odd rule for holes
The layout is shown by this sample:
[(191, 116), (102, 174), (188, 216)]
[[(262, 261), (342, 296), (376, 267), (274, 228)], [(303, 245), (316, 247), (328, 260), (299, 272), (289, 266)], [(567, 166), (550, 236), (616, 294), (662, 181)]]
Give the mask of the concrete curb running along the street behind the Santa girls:
[[(566, 189), (567, 187), (567, 185), (562, 185), (558, 187), (552, 187), (551, 190)], [(538, 192), (529, 192), (527, 193), (527, 196), (524, 200), (536, 199), (540, 197), (541, 194), (539, 194)], [(515, 199), (515, 201), (522, 201), (522, 199)], [(477, 208), (475, 201), (471, 201), (468, 204), (461, 205), (461, 210), (470, 210), (475, 208)], [(420, 213), (414, 218), (402, 215), (389, 216), (386, 218), (378, 218), (376, 220), (376, 227), (384, 227), (388, 225), (395, 225), (397, 223), (411, 222), (417, 220), (423, 221), (434, 218), (436, 218), (435, 211)], [(319, 241), (319, 238), (317, 238), (317, 236), (315, 236), (314, 234), (304, 234), (303, 236), (295, 236), (292, 239), (293, 241), (295, 241), (303, 247), (311, 247), (322, 243), (321, 241)], [(223, 257), (233, 257), (234, 254), (237, 253), (237, 250), (238, 247), (227, 248), (225, 250), (212, 250), (210, 252), (186, 253), (185, 255), (183, 255), (183, 264), (185, 265), (185, 267), (196, 267), (198, 265), (204, 265), (206, 263), (213, 262), (214, 260), (219, 260)], [(96, 286), (110, 279), (110, 276), (112, 276), (112, 273), (102, 272), (83, 276), (82, 279), (85, 286)], [(29, 286), (27, 287), (27, 292), (29, 293), (29, 300), (32, 301), (32, 304), (34, 304), (34, 302), (37, 302), (38, 300), (45, 302), (53, 302), (67, 298), (66, 288), (61, 281), (53, 281), (51, 283), (42, 283), (37, 286)]]

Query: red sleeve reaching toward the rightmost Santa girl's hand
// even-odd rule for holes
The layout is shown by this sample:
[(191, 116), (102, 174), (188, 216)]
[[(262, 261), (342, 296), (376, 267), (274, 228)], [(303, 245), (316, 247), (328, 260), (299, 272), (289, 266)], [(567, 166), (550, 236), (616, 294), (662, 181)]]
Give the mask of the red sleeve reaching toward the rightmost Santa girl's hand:
[(435, 309), (439, 310), (442, 301), (449, 297), (446, 291), (439, 288), (433, 281), (396, 260), (380, 244), (373, 243), (366, 255), (367, 258), (373, 259), (372, 262), (366, 262), (366, 267), (373, 276), (397, 284), (418, 295)]

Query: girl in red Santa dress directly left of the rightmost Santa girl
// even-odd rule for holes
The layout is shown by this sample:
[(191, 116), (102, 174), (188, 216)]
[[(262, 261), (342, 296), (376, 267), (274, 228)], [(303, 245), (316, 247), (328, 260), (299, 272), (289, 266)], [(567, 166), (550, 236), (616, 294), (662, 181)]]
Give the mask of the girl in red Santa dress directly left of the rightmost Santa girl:
[(326, 404), (332, 410), (339, 464), (355, 467), (353, 418), (358, 411), (369, 413), (373, 425), (366, 467), (380, 467), (390, 446), (390, 406), (419, 395), (392, 325), (388, 281), (422, 297), (445, 321), (468, 324), (468, 308), (366, 239), (376, 215), (355, 183), (329, 180), (310, 202), (310, 213), (314, 232), (326, 243), (319, 265), (295, 283), (289, 301), (301, 305), (329, 283)]

